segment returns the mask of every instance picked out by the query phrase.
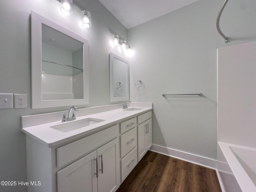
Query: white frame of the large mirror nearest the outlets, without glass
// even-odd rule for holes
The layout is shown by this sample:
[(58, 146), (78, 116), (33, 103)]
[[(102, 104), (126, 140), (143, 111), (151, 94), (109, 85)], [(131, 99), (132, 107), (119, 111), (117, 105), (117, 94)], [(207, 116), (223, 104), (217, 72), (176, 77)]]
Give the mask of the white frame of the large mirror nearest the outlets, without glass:
[[(42, 24), (45, 24), (67, 36), (70, 36), (84, 44), (84, 98), (64, 100), (42, 100)], [(57, 106), (73, 106), (89, 103), (89, 46), (88, 40), (74, 32), (56, 24), (55, 22), (31, 11), (31, 88), (32, 109)]]

